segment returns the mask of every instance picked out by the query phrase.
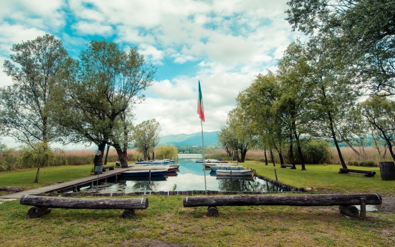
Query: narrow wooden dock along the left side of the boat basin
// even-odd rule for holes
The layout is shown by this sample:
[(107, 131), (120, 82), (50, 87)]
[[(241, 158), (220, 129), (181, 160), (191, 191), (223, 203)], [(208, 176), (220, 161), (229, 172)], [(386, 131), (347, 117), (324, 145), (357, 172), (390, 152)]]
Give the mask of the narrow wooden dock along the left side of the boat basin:
[[(108, 170), (108, 171), (103, 172), (102, 174), (99, 174), (99, 180), (106, 179), (106, 178), (112, 177), (112, 176), (117, 176), (118, 174), (120, 174), (124, 171), (136, 170), (139, 168), (140, 167), (129, 166), (127, 168), (116, 168), (115, 170)], [(36, 189), (25, 190), (22, 192), (17, 192), (17, 193), (8, 194), (8, 195), (2, 195), (2, 196), (0, 196), (0, 198), (20, 199), (21, 196), (23, 196), (23, 195), (40, 195), (42, 193), (50, 193), (50, 192), (54, 192), (54, 191), (62, 191), (62, 190), (70, 190), (70, 189), (77, 190), (77, 188), (79, 188), (79, 186), (94, 183), (96, 180), (97, 180), (97, 175), (93, 175), (93, 176), (79, 178), (79, 179), (72, 180), (72, 181), (51, 184), (51, 185), (36, 188)]]

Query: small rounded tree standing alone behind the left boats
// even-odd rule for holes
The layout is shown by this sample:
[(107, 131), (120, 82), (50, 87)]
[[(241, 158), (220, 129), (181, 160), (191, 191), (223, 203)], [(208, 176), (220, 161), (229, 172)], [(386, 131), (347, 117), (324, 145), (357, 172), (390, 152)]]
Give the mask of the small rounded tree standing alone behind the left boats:
[(160, 124), (156, 119), (143, 121), (133, 129), (134, 146), (144, 154), (144, 160), (151, 160), (150, 151), (159, 139)]

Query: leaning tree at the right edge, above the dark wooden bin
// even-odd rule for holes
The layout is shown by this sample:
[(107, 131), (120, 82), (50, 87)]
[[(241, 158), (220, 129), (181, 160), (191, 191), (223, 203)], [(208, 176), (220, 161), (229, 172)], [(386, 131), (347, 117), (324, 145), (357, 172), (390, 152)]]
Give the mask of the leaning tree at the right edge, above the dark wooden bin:
[(395, 161), (395, 102), (386, 97), (370, 96), (360, 104), (360, 112), (366, 121), (374, 126), (379, 136), (386, 142), (391, 157)]

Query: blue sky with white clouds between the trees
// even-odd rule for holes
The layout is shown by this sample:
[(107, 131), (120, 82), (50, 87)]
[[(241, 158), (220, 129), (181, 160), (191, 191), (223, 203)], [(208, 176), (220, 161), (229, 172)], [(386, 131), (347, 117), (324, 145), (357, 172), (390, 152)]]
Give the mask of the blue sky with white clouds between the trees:
[[(162, 135), (200, 131), (200, 80), (203, 129), (214, 131), (237, 94), (259, 73), (275, 71), (289, 42), (303, 36), (284, 20), (286, 9), (286, 0), (0, 0), (0, 64), (12, 44), (46, 33), (73, 58), (91, 40), (137, 47), (157, 74), (134, 106), (135, 124), (155, 118)], [(1, 68), (0, 86), (11, 83)]]

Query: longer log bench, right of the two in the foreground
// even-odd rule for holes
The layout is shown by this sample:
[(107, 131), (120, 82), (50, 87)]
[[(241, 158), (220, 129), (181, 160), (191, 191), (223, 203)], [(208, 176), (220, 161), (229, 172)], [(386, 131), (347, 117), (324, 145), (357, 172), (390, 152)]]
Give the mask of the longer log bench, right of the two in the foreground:
[(184, 197), (184, 207), (207, 206), (207, 216), (218, 216), (217, 206), (339, 206), (339, 211), (350, 217), (365, 218), (366, 205), (380, 205), (377, 194), (328, 195), (235, 195)]

